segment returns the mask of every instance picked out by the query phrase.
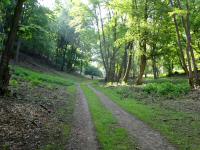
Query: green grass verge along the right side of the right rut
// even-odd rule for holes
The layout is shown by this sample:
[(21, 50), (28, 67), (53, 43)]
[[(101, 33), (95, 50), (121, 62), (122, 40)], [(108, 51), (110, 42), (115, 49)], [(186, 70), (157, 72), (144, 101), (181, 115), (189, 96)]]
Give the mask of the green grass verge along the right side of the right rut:
[(105, 88), (97, 85), (95, 87), (124, 110), (159, 130), (180, 149), (200, 149), (200, 118), (198, 114), (188, 114), (167, 110), (156, 105), (146, 105), (133, 98), (123, 99), (116, 88)]

